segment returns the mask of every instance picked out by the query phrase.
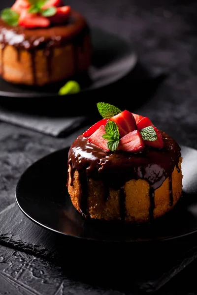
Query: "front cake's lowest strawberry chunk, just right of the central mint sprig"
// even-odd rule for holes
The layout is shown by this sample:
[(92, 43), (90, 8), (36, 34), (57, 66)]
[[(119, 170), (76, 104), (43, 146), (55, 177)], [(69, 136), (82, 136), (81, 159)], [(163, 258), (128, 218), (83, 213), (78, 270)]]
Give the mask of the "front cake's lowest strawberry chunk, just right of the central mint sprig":
[(134, 130), (120, 139), (118, 149), (139, 152), (144, 148), (144, 142), (138, 130)]

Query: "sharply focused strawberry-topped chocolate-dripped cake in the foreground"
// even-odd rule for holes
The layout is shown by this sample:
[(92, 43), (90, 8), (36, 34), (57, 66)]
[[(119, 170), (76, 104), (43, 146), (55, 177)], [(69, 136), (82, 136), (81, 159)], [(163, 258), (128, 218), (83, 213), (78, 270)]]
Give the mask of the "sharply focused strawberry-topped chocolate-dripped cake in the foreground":
[(90, 218), (152, 222), (181, 198), (180, 147), (147, 117), (107, 103), (98, 109), (104, 118), (69, 149), (71, 202)]

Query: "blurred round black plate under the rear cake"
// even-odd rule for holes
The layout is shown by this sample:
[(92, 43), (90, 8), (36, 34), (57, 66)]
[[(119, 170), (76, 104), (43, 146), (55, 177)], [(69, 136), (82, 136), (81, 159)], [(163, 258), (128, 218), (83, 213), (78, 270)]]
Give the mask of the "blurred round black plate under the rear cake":
[[(89, 76), (73, 77), (82, 86), (81, 92), (99, 89), (125, 77), (135, 66), (136, 53), (131, 44), (101, 29), (92, 29), (93, 61)], [(69, 79), (70, 80), (70, 79)], [(5, 97), (55, 97), (63, 81), (46, 87), (25, 87), (7, 83), (0, 78), (0, 96)]]

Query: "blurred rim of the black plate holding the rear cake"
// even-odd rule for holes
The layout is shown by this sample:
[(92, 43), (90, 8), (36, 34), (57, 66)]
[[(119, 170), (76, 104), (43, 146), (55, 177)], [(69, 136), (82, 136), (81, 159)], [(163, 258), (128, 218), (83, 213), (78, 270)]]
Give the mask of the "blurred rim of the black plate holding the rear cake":
[[(130, 71), (132, 69), (134, 69), (134, 67), (136, 66), (136, 63), (137, 63), (137, 60), (138, 60), (138, 54), (137, 54), (137, 52), (136, 52), (136, 50), (134, 48), (134, 45), (130, 41), (128, 41), (126, 38), (122, 38), (118, 34), (109, 32), (108, 30), (101, 29), (101, 28), (98, 28), (98, 27), (92, 27), (91, 28), (91, 32), (96, 31), (96, 30), (102, 31), (102, 32), (107, 33), (109, 35), (112, 35), (112, 36), (120, 39), (125, 44), (127, 44), (128, 48), (130, 48), (130, 50), (131, 50), (132, 66), (130, 68), (128, 68), (127, 71), (125, 71), (125, 74), (122, 77), (116, 79), (115, 81), (113, 81), (111, 83), (104, 82), (102, 86), (96, 87), (96, 88), (91, 88), (91, 87), (85, 88), (85, 89), (82, 89), (79, 93), (67, 94), (66, 97), (68, 97), (68, 98), (71, 97), (72, 95), (79, 96), (80, 94), (83, 94), (84, 92), (90, 92), (90, 91), (95, 91), (95, 90), (98, 90), (98, 89), (103, 89), (103, 88), (107, 87), (108, 85), (112, 85), (113, 83), (117, 83), (118, 81), (120, 81), (121, 79), (126, 77), (130, 73)], [(3, 80), (2, 77), (0, 77), (0, 79)], [(7, 82), (7, 81), (4, 81), (4, 82), (6, 82), (8, 84), (12, 84), (12, 83)], [(0, 97), (3, 97), (3, 98), (5, 98), (5, 97), (7, 97), (7, 98), (38, 98), (39, 97), (39, 98), (44, 99), (46, 97), (48, 97), (48, 98), (55, 98), (55, 97), (61, 98), (61, 97), (65, 97), (65, 95), (61, 96), (61, 95), (58, 95), (58, 93), (50, 93), (50, 92), (48, 92), (48, 93), (46, 93), (46, 92), (45, 93), (41, 93), (41, 92), (39, 92), (39, 93), (31, 93), (31, 92), (30, 93), (17, 93), (17, 92), (10, 92), (10, 91), (0, 90)]]

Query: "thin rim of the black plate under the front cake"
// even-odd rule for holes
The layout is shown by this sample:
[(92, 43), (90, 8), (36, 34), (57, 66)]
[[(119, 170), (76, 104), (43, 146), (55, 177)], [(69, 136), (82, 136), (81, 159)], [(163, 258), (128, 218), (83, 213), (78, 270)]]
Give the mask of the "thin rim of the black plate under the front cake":
[[(188, 147), (188, 146), (185, 146), (185, 145), (180, 145), (181, 148), (187, 148), (187, 149), (191, 149), (191, 150), (195, 150), (197, 152), (197, 149), (195, 148), (191, 148), (191, 147)], [(95, 242), (108, 242), (108, 243), (156, 243), (156, 242), (164, 242), (164, 241), (169, 241), (169, 240), (175, 240), (175, 239), (178, 239), (178, 238), (183, 238), (185, 236), (190, 236), (190, 235), (193, 235), (195, 233), (197, 233), (197, 229), (196, 230), (193, 230), (191, 232), (188, 232), (188, 233), (185, 233), (185, 234), (180, 234), (178, 236), (167, 236), (167, 237), (156, 237), (156, 238), (147, 238), (147, 239), (133, 239), (133, 240), (106, 240), (106, 239), (97, 239), (97, 238), (92, 238), (92, 237), (84, 237), (84, 236), (76, 236), (76, 235), (71, 235), (71, 234), (67, 234), (67, 233), (64, 233), (64, 232), (60, 232), (58, 230), (55, 230), (53, 228), (50, 228), (49, 226), (46, 226), (42, 223), (40, 223), (39, 221), (35, 220), (33, 217), (31, 217), (21, 206), (20, 206), (20, 202), (18, 201), (18, 197), (17, 197), (17, 190), (18, 190), (18, 186), (20, 185), (20, 182), (21, 182), (21, 179), (23, 178), (23, 176), (26, 174), (26, 172), (31, 169), (34, 165), (37, 165), (38, 162), (44, 160), (45, 158), (47, 158), (48, 156), (50, 155), (54, 155), (56, 153), (59, 153), (63, 150), (66, 150), (66, 149), (69, 149), (69, 147), (66, 147), (66, 148), (61, 148), (61, 149), (58, 149), (56, 151), (53, 151), (47, 155), (45, 155), (44, 157), (36, 160), (35, 162), (33, 162), (32, 165), (30, 165), (23, 173), (22, 175), (19, 177), (18, 181), (17, 181), (17, 184), (16, 184), (16, 188), (15, 188), (15, 201), (16, 201), (16, 204), (18, 205), (18, 207), (20, 208), (20, 210), (23, 212), (23, 214), (28, 217), (31, 221), (33, 221), (33, 223), (39, 225), (40, 227), (42, 228), (45, 228), (49, 231), (52, 231), (53, 233), (57, 233), (57, 234), (61, 234), (63, 236), (69, 236), (69, 237), (74, 237), (74, 238), (78, 238), (78, 239), (81, 239), (81, 240), (90, 240), (90, 241), (95, 241)]]

